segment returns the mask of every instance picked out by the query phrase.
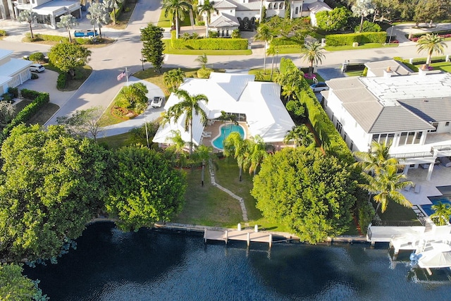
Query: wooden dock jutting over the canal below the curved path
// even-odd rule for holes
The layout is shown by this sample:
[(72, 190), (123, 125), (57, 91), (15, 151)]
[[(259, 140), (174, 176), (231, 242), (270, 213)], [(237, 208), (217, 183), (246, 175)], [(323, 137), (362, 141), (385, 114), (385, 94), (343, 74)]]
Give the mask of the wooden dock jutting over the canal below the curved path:
[(250, 230), (226, 230), (216, 231), (204, 229), (204, 241), (207, 240), (222, 240), (228, 242), (228, 240), (241, 240), (247, 242), (249, 247), (251, 242), (267, 242), (269, 247), (273, 245), (273, 235), (271, 233), (255, 232)]

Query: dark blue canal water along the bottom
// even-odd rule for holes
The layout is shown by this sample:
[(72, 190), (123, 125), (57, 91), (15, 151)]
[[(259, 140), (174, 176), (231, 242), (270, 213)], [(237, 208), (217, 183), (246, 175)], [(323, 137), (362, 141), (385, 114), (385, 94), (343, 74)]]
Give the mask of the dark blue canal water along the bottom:
[[(409, 254), (405, 254), (406, 258)], [(223, 243), (95, 223), (58, 264), (25, 268), (51, 300), (450, 300), (445, 273), (412, 278), (387, 246)]]

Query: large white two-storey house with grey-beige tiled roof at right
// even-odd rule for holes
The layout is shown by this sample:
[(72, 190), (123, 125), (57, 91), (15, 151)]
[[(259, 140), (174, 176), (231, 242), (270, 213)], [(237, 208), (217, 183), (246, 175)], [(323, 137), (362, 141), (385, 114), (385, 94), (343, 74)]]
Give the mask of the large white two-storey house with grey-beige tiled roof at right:
[(378, 76), (328, 80), (326, 112), (352, 151), (390, 143), (392, 156), (429, 168), (430, 179), (435, 160), (451, 156), (451, 75), (383, 63), (390, 68), (369, 70)]

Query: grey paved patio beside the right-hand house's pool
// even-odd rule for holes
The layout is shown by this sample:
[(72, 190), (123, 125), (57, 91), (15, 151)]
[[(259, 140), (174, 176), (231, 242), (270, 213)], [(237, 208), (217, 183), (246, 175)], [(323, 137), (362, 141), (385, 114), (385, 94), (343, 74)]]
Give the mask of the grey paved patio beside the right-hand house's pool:
[(431, 204), (428, 197), (443, 195), (437, 187), (451, 185), (451, 167), (435, 165), (430, 181), (426, 180), (427, 174), (428, 170), (423, 168), (412, 168), (407, 172), (407, 180), (411, 180), (415, 185), (421, 185), (418, 193), (414, 191), (414, 188), (409, 191), (401, 190), (402, 195), (414, 205)]

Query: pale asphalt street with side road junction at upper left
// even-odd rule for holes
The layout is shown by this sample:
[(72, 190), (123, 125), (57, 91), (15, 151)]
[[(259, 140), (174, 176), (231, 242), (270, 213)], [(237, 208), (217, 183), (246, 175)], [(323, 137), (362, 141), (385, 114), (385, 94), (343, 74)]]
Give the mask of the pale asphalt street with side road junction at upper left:
[[(137, 2), (130, 23), (125, 30), (113, 32), (111, 36), (116, 37), (117, 42), (109, 47), (92, 49), (92, 57), (89, 65), (92, 66), (92, 75), (80, 87), (78, 91), (68, 97), (65, 102), (60, 102), (61, 109), (56, 115), (49, 120), (47, 124), (56, 123), (57, 116), (64, 116), (73, 113), (77, 109), (87, 109), (92, 106), (109, 106), (111, 100), (116, 96), (121, 87), (125, 83), (125, 79), (121, 82), (116, 80), (116, 76), (121, 73), (125, 67), (128, 68), (129, 74), (142, 70), (140, 27), (146, 26), (147, 23), (156, 23), (159, 19), (161, 4), (159, 1)], [(89, 26), (89, 25), (85, 25)], [(441, 25), (443, 26), (443, 25)], [(407, 27), (408, 28), (408, 27)], [(27, 27), (18, 25), (18, 30), (27, 32)], [(102, 30), (108, 34), (107, 29)], [(254, 43), (253, 43), (254, 44)], [(451, 44), (451, 42), (447, 42)], [(22, 57), (35, 51), (47, 52), (49, 46), (41, 44), (28, 44), (21, 42), (11, 42), (0, 40), (0, 48), (15, 51), (14, 56)], [(451, 47), (448, 47), (447, 53), (451, 53)], [(209, 66), (213, 68), (226, 69), (251, 69), (262, 68), (264, 62), (263, 48), (253, 49), (253, 54), (249, 56), (209, 56)], [(403, 58), (424, 57), (425, 53), (418, 54), (416, 44), (414, 42), (402, 42), (399, 47), (384, 49), (361, 49), (351, 51), (334, 51), (325, 52), (326, 58), (317, 67), (316, 70), (330, 70), (332, 68), (340, 68), (345, 60), (350, 63), (364, 63), (369, 61), (379, 61), (383, 59), (392, 59), (393, 56), (402, 56)], [(299, 67), (307, 67), (307, 62), (299, 59), (299, 55), (279, 55), (281, 57), (292, 59)], [(194, 61), (197, 56), (178, 56), (167, 55), (164, 61), (165, 67), (198, 67), (198, 63)], [(271, 68), (271, 58), (266, 59), (267, 68)], [(148, 68), (150, 65), (146, 63), (144, 66)], [(332, 73), (333, 74), (333, 73)], [(118, 125), (120, 127), (120, 125)], [(113, 133), (111, 133), (113, 135)]]

